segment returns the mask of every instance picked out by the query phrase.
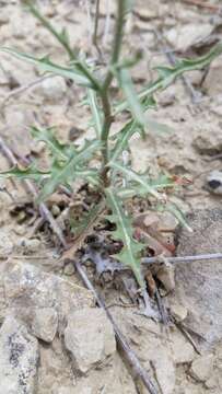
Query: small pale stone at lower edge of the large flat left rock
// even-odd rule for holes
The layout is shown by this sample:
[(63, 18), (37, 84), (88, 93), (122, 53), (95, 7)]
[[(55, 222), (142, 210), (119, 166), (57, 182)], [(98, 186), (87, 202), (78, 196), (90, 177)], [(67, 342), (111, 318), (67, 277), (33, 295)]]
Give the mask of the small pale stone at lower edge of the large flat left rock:
[(32, 322), (32, 332), (46, 343), (54, 340), (58, 328), (58, 314), (54, 308), (36, 309)]

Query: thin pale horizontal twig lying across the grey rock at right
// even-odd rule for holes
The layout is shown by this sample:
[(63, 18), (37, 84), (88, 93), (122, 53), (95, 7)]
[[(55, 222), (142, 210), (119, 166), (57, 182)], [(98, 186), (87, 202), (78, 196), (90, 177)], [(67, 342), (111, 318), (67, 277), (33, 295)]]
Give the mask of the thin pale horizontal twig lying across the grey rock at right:
[[(192, 263), (192, 262), (205, 262), (210, 259), (222, 259), (222, 253), (210, 253), (210, 254), (202, 254), (196, 256), (177, 256), (177, 257), (164, 257), (164, 260), (176, 264), (176, 263)], [(142, 264), (153, 264), (160, 263), (161, 259), (159, 256), (156, 257), (143, 257), (141, 259)]]

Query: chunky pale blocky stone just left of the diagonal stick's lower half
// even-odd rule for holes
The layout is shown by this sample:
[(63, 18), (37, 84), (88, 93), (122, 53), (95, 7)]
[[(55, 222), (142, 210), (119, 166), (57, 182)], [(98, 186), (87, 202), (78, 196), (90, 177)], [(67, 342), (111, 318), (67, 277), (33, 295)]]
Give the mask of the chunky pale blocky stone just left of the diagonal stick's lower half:
[(80, 372), (101, 366), (116, 351), (114, 329), (105, 312), (84, 308), (70, 314), (65, 345)]

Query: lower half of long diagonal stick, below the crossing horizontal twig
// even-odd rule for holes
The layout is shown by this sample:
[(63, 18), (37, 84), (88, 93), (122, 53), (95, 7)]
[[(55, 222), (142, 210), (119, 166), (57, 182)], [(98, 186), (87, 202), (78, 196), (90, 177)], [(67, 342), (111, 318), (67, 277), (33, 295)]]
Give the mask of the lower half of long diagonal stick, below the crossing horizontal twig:
[(106, 315), (107, 315), (108, 320), (113, 324), (117, 344), (118, 344), (119, 348), (121, 349), (121, 351), (124, 352), (124, 355), (126, 356), (126, 358), (127, 358), (128, 362), (130, 363), (130, 366), (133, 368), (135, 373), (137, 374), (138, 378), (141, 379), (141, 381), (143, 382), (144, 386), (148, 389), (150, 394), (157, 394), (157, 391), (154, 387), (153, 383), (151, 382), (147, 371), (142, 368), (137, 355), (129, 347), (129, 344), (124, 338), (124, 336), (122, 336), (121, 332), (119, 331), (116, 322), (114, 321), (114, 317), (112, 316), (112, 314), (107, 310), (104, 301), (97, 294), (94, 286), (92, 285), (92, 282), (87, 278), (87, 275), (86, 275), (85, 270), (82, 268), (82, 266), (81, 266), (81, 264), (79, 262), (73, 262), (73, 264), (74, 264), (74, 266), (77, 268), (77, 271), (79, 273), (82, 281), (84, 282), (86, 288), (92, 291), (93, 296), (95, 297), (95, 300), (96, 300), (98, 306), (102, 308), (106, 312)]

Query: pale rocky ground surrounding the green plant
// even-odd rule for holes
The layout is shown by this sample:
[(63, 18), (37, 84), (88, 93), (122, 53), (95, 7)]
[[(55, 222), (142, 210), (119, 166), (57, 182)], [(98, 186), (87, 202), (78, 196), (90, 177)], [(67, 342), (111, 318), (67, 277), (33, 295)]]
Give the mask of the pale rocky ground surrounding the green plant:
[[(73, 46), (96, 56), (90, 38), (90, 2), (38, 3), (55, 25), (68, 28)], [(100, 33), (107, 50), (106, 1), (101, 3)], [(176, 57), (196, 56), (221, 39), (220, 1), (210, 3), (209, 9), (186, 1), (136, 1), (125, 50), (143, 51), (142, 61), (132, 70), (138, 88), (154, 77), (153, 67), (167, 63), (166, 47)], [(109, 1), (110, 28), (113, 5)], [(55, 39), (16, 0), (0, 1), (0, 44), (35, 56), (49, 53), (66, 61)], [(34, 67), (0, 55), (0, 137), (23, 163), (38, 155), (43, 163), (46, 160), (44, 146), (30, 136), (28, 126), (34, 121), (56, 126), (61, 140), (92, 135), (90, 114), (78, 105), (82, 92), (60, 77), (39, 77)], [(192, 234), (180, 230), (178, 255), (221, 252), (222, 56), (209, 69), (189, 73), (186, 81), (178, 80), (156, 99), (159, 109), (150, 116), (172, 131), (156, 135), (150, 130), (145, 141), (135, 137), (132, 165), (140, 171), (149, 167), (154, 175), (167, 171), (189, 179), (174, 197), (194, 230)], [(120, 125), (118, 120), (114, 131)], [(0, 169), (8, 166), (2, 153)], [(119, 354), (105, 312), (95, 305), (73, 265), (59, 258), (57, 239), (47, 225), (43, 229), (33, 197), (17, 182), (1, 179), (0, 187), (0, 393), (147, 393)], [(65, 197), (52, 196), (48, 207), (62, 227)], [(110, 283), (101, 291), (159, 393), (220, 394), (222, 264), (195, 262), (172, 270), (173, 285), (170, 271), (159, 279), (165, 283), (162, 302), (175, 324), (164, 326), (139, 314), (138, 305)]]

